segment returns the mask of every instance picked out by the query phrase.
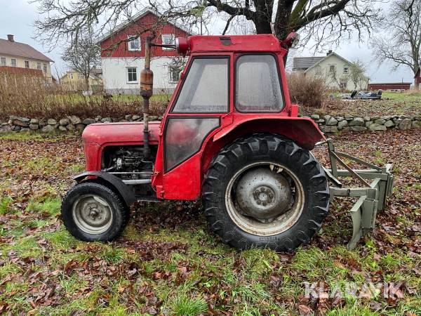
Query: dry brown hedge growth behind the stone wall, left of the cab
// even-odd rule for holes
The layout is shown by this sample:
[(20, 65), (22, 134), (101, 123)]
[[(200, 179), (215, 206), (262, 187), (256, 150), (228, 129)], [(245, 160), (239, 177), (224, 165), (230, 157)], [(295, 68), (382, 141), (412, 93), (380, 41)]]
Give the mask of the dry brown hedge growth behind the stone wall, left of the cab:
[[(160, 115), (168, 104), (168, 95), (151, 99), (151, 114)], [(27, 78), (18, 74), (0, 73), (0, 119), (48, 117), (123, 117), (142, 112), (141, 96), (83, 96), (58, 84), (46, 84), (44, 78)]]

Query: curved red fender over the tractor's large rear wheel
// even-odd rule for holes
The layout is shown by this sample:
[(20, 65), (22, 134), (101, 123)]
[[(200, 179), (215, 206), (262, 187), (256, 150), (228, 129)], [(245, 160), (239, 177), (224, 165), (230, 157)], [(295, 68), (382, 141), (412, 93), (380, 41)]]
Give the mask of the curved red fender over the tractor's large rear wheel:
[(307, 150), (312, 150), (319, 140), (326, 139), (319, 126), (309, 117), (272, 116), (238, 120), (216, 133), (213, 141), (233, 136), (237, 138), (250, 133), (276, 133), (290, 138)]

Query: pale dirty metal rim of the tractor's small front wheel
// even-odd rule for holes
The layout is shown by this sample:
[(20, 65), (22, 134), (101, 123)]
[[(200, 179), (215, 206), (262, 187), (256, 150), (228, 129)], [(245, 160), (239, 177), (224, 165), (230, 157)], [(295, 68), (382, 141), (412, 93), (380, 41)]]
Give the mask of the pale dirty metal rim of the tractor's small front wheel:
[(98, 195), (83, 195), (73, 204), (72, 216), (77, 227), (88, 234), (101, 234), (112, 225), (111, 207)]

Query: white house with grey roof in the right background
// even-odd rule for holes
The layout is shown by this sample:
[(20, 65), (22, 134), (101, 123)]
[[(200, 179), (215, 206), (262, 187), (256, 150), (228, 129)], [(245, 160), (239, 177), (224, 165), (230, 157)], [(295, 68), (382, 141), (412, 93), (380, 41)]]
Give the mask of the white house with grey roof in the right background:
[(340, 90), (366, 90), (368, 77), (363, 77), (356, 84), (351, 79), (351, 62), (342, 56), (328, 51), (326, 56), (295, 57), (293, 71), (306, 76), (321, 77), (326, 85)]

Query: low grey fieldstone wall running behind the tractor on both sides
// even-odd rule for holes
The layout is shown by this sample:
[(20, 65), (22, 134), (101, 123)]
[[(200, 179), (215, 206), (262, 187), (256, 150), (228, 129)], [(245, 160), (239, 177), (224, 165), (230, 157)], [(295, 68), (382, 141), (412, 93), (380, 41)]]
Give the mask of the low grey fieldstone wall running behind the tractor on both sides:
[[(325, 133), (337, 133), (338, 131), (386, 131), (387, 129), (411, 129), (421, 127), (421, 117), (408, 117), (404, 115), (387, 115), (383, 117), (333, 117), (330, 115), (320, 116), (314, 114), (311, 118), (319, 125)], [(151, 116), (151, 121), (160, 120), (161, 117)], [(60, 120), (28, 117), (9, 117), (8, 121), (0, 123), (0, 133), (10, 131), (42, 131), (51, 133), (53, 131), (83, 131), (83, 129), (97, 122), (117, 121), (142, 121), (140, 115), (126, 115), (125, 117), (88, 117), (81, 119), (75, 115), (63, 117)]]

